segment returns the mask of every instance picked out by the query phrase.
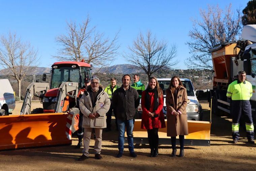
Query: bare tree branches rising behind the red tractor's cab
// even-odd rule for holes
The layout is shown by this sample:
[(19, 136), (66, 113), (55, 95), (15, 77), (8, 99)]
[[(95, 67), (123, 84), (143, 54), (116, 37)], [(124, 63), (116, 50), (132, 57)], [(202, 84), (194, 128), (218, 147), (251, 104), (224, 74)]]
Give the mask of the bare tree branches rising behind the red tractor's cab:
[(57, 59), (64, 61), (81, 61), (94, 66), (102, 67), (114, 60), (117, 54), (118, 33), (110, 40), (105, 38), (104, 33), (96, 32), (96, 27), (89, 27), (90, 18), (77, 24), (75, 21), (67, 23), (67, 34), (56, 38), (62, 48), (59, 49)]

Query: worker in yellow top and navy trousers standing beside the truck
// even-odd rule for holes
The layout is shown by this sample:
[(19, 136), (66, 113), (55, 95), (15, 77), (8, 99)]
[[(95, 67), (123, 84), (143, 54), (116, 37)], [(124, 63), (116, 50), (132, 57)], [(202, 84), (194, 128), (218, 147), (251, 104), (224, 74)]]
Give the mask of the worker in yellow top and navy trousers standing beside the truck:
[(245, 117), (245, 126), (248, 142), (254, 144), (254, 127), (252, 120), (252, 109), (250, 98), (252, 97), (252, 84), (245, 80), (246, 72), (238, 72), (238, 80), (229, 84), (227, 97), (232, 99), (232, 143), (236, 144), (239, 140), (239, 121), (242, 115)]

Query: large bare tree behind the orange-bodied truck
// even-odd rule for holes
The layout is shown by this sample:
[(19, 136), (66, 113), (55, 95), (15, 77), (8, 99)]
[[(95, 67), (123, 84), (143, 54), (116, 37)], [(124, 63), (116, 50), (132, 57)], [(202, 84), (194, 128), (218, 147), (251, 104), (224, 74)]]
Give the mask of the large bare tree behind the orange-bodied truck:
[(239, 10), (232, 12), (231, 4), (225, 11), (219, 6), (208, 5), (208, 10), (200, 9), (201, 20), (192, 19), (193, 28), (189, 31), (191, 57), (185, 63), (189, 68), (213, 69), (209, 49), (219, 43), (234, 41), (241, 31)]

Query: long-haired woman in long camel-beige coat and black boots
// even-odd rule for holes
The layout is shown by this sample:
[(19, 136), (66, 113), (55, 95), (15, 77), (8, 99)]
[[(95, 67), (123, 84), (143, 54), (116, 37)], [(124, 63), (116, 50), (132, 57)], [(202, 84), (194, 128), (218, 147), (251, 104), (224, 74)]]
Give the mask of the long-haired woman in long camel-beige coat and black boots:
[(186, 106), (188, 103), (187, 90), (178, 76), (173, 76), (166, 90), (167, 107), (167, 136), (171, 137), (172, 153), (176, 156), (176, 136), (180, 139), (180, 155), (184, 156), (184, 135), (188, 135)]

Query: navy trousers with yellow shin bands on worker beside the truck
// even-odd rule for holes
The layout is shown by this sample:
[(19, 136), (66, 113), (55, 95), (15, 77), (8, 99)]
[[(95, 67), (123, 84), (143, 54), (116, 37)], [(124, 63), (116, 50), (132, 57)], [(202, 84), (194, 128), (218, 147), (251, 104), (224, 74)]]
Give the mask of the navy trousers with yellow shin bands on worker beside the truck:
[(238, 140), (239, 135), (239, 121), (242, 115), (244, 115), (246, 124), (247, 138), (254, 138), (254, 127), (252, 120), (252, 109), (249, 100), (232, 100), (231, 103), (232, 114), (232, 138)]

